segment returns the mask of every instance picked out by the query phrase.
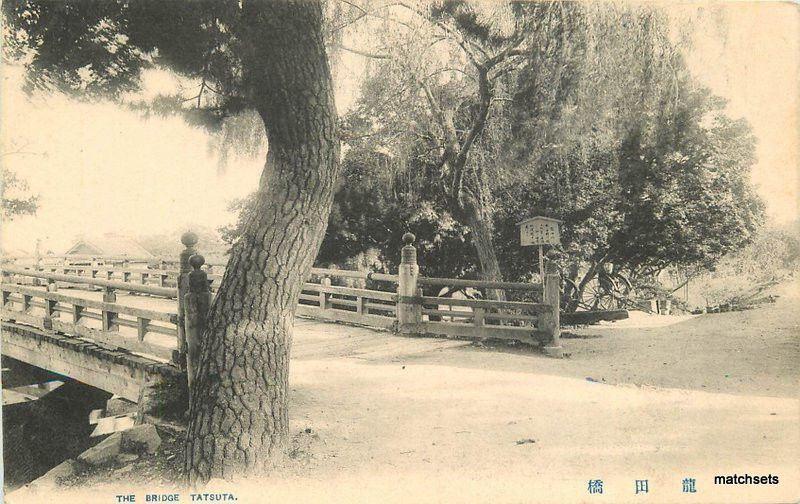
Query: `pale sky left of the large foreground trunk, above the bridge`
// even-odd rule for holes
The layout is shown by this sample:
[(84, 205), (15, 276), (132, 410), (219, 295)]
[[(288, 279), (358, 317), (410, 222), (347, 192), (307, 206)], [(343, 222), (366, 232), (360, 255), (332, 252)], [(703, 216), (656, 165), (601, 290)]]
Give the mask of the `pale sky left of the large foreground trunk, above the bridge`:
[[(234, 218), (228, 202), (257, 187), (263, 157), (234, 159), (220, 174), (209, 135), (179, 117), (144, 119), (64, 96), (32, 102), (19, 91), (19, 69), (6, 70), (2, 160), (40, 199), (35, 216), (4, 223), (5, 250), (31, 252), (41, 238), (63, 253), (81, 235), (217, 228)], [(164, 80), (151, 76), (148, 93)]]

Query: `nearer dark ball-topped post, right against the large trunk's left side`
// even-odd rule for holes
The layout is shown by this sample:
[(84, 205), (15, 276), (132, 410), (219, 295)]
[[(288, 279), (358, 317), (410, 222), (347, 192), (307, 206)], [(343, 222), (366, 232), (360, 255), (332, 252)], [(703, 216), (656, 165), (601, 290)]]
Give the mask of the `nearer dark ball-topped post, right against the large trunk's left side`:
[(205, 263), (203, 256), (193, 255), (189, 264), (193, 268), (187, 275), (187, 293), (184, 299), (185, 335), (187, 347), (186, 379), (191, 397), (194, 373), (200, 361), (200, 341), (206, 328), (206, 316), (211, 306), (211, 289), (208, 285), (208, 274), (200, 269)]

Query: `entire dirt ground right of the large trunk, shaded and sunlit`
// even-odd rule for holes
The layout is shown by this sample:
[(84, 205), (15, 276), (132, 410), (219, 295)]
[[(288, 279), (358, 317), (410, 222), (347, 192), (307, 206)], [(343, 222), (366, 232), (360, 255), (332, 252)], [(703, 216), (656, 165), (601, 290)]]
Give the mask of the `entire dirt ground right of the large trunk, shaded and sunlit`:
[[(405, 481), (408, 491), (435, 488), (434, 500), (552, 502), (563, 492), (556, 500), (580, 501), (594, 477), (611, 482), (603, 498), (614, 502), (633, 500), (639, 478), (657, 488), (654, 501), (684, 501), (683, 477), (697, 479), (700, 502), (793, 500), (796, 301), (660, 327), (573, 331), (564, 360), (304, 322), (294, 425), (319, 436), (308, 447), (315, 478), (381, 491)], [(713, 484), (717, 474), (758, 471), (780, 474), (781, 485)], [(304, 495), (324, 495), (319, 481), (298, 477)], [(543, 493), (547, 482), (556, 493)]]

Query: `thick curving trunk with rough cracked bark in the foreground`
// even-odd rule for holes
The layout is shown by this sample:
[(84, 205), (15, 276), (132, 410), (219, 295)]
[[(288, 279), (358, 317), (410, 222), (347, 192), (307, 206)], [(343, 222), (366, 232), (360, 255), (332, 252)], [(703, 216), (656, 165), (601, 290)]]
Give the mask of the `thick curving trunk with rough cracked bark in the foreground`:
[(186, 440), (191, 484), (262, 474), (283, 453), (294, 312), (339, 171), (320, 5), (245, 1), (242, 9), (244, 78), (269, 154), (203, 335)]

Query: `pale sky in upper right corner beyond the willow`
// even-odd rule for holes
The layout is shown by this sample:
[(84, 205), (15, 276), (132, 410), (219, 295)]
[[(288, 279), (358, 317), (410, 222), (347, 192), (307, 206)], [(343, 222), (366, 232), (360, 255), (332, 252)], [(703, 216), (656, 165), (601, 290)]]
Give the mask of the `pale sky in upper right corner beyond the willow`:
[[(800, 4), (684, 3), (674, 19), (692, 21), (692, 74), (728, 100), (758, 138), (753, 182), (768, 217), (798, 217), (800, 199)], [(686, 23), (684, 23), (686, 24)]]

